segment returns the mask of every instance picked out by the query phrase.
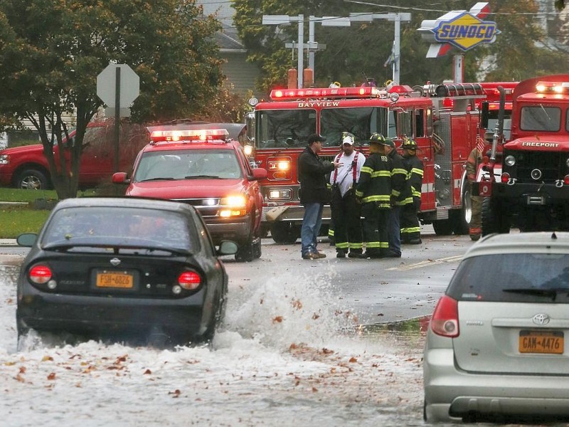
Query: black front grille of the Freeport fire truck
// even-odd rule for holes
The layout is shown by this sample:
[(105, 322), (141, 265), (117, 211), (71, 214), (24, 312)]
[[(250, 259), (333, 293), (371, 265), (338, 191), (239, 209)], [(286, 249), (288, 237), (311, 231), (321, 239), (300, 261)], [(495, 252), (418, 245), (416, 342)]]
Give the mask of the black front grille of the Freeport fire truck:
[[(554, 184), (556, 180), (563, 179), (569, 172), (565, 160), (566, 153), (560, 152), (511, 152), (504, 153), (505, 156), (513, 154), (516, 157), (516, 164), (513, 168), (504, 165), (504, 172), (509, 172), (520, 183), (543, 182)], [(505, 158), (505, 157), (504, 157)]]

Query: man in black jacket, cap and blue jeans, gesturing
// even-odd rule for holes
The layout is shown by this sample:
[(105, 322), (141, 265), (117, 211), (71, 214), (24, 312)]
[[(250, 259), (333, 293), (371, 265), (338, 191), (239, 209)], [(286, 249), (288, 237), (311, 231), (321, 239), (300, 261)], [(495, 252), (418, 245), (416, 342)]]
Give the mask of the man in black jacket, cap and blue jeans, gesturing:
[(330, 201), (330, 191), (326, 188), (326, 174), (338, 169), (339, 162), (324, 164), (318, 153), (325, 138), (310, 135), (308, 147), (298, 158), (298, 179), (300, 182), (300, 203), (304, 206), (304, 217), (300, 230), (301, 253), (304, 260), (326, 258), (317, 250), (317, 238), (322, 223), (324, 204)]

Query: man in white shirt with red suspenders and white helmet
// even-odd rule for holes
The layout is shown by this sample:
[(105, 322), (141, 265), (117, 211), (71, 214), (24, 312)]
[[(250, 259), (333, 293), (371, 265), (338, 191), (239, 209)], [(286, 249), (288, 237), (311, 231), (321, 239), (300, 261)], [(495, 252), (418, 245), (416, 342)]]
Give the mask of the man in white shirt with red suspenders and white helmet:
[(361, 205), (356, 201), (354, 193), (361, 167), (366, 157), (353, 149), (355, 137), (349, 132), (343, 132), (341, 147), (334, 162), (342, 166), (330, 174), (332, 199), (330, 209), (331, 223), (334, 224), (334, 241), (336, 243), (336, 258), (359, 258), (362, 253), (361, 243)]

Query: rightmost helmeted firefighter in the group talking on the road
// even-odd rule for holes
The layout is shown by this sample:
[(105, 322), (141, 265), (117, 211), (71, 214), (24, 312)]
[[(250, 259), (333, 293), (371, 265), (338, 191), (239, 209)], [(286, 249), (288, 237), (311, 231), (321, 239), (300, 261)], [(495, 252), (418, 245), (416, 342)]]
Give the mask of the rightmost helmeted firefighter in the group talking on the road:
[(422, 241), (421, 227), (417, 215), (421, 209), (423, 164), (421, 159), (417, 157), (417, 142), (415, 139), (405, 139), (401, 148), (403, 149), (403, 162), (408, 171), (407, 180), (413, 196), (413, 203), (408, 203), (401, 207), (401, 243), (419, 245)]

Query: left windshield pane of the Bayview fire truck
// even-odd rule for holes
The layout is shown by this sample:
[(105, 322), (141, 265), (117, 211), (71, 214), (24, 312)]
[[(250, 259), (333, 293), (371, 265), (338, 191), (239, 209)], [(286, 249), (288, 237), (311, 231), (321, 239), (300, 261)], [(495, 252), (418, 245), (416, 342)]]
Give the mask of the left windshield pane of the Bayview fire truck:
[(304, 147), (316, 133), (315, 110), (264, 110), (257, 117), (257, 148)]

